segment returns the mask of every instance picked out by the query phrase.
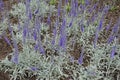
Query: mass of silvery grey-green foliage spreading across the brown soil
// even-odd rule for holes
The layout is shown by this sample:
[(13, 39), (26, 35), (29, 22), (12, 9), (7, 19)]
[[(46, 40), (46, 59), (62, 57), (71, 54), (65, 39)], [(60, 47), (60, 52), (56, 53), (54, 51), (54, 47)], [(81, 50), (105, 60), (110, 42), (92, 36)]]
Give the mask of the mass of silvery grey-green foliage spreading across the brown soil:
[[(73, 2), (71, 1), (71, 3)], [(37, 76), (36, 80), (64, 80), (65, 78), (72, 80), (99, 80), (103, 78), (113, 80), (114, 71), (120, 71), (118, 38), (115, 38), (109, 44), (95, 43), (94, 40), (90, 44), (89, 39), (96, 35), (104, 11), (98, 12), (95, 20), (88, 24), (88, 18), (86, 17), (90, 13), (88, 12), (89, 8), (85, 5), (77, 7), (75, 11), (72, 9), (73, 12), (72, 10), (66, 12), (66, 7), (60, 8), (63, 11), (62, 21), (58, 19), (53, 22), (52, 34), (49, 33), (50, 26), (48, 24), (49, 16), (57, 13), (57, 11), (59, 13), (55, 5), (50, 5), (47, 0), (26, 0), (14, 5), (9, 14), (17, 17), (19, 23), (9, 24), (16, 33), (12, 33), (12, 40), (16, 43), (20, 42), (23, 49), (17, 55), (15, 54), (16, 48), (13, 48), (13, 52), (8, 55), (12, 56), (11, 60), (8, 59), (8, 56), (2, 60), (0, 69), (9, 72), (11, 80), (23, 80), (26, 76), (25, 71), (28, 71), (28, 77)], [(75, 8), (74, 4), (71, 7)], [(48, 18), (48, 24), (41, 21), (44, 17)], [(104, 29), (99, 30), (99, 35), (96, 36), (101, 36)], [(37, 37), (33, 36), (35, 32)], [(73, 37), (70, 37), (71, 35)], [(43, 39), (41, 36), (43, 36)], [(66, 37), (70, 37), (70, 39), (67, 41)], [(36, 38), (41, 39), (40, 43)], [(61, 41), (61, 38), (64, 41)], [(16, 44), (15, 42), (13, 43)], [(82, 66), (83, 56), (80, 56), (80, 62), (74, 60), (74, 57), (68, 53), (69, 50), (73, 50), (73, 47), (70, 46), (74, 46), (75, 42), (83, 46), (83, 50), (79, 53), (91, 58), (89, 65), (86, 67)], [(41, 46), (40, 49), (37, 48), (37, 44)], [(110, 54), (114, 53), (114, 50), (117, 55), (111, 59)], [(15, 59), (16, 57), (17, 59)], [(119, 74), (116, 77), (119, 79)]]

